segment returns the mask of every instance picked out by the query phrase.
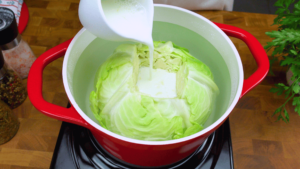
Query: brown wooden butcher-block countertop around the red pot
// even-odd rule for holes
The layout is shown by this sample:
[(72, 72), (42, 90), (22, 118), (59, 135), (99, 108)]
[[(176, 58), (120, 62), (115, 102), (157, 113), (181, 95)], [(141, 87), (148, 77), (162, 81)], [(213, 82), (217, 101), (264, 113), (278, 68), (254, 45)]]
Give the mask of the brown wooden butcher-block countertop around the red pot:
[[(80, 29), (79, 0), (25, 0), (29, 7), (29, 24), (23, 38), (38, 57), (46, 50), (69, 38)], [(276, 30), (274, 15), (201, 11), (199, 14), (214, 21), (234, 25), (252, 33), (264, 46), (271, 39), (265, 32)], [(255, 61), (240, 40), (231, 38), (244, 65), (245, 76), (256, 70)], [(66, 106), (61, 69), (62, 58), (44, 71), (43, 94), (49, 102)], [(285, 70), (275, 66), (276, 76), (268, 77), (243, 97), (230, 115), (234, 165), (248, 168), (300, 168), (300, 117), (288, 105), (290, 123), (275, 122), (273, 111), (284, 98), (268, 90), (275, 82), (285, 83)], [(24, 81), (26, 83), (26, 80)], [(14, 110), (21, 122), (17, 135), (0, 146), (1, 169), (49, 168), (61, 122), (36, 110), (29, 99)]]

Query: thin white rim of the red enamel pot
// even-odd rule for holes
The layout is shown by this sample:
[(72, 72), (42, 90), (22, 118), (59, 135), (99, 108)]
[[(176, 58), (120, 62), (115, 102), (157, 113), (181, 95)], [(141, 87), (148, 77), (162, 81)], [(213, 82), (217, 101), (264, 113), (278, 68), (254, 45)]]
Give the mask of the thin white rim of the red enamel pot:
[(107, 135), (110, 135), (116, 139), (119, 139), (119, 140), (122, 140), (122, 141), (126, 141), (126, 142), (129, 142), (129, 143), (135, 143), (135, 144), (142, 144), (142, 145), (170, 145), (170, 144), (176, 144), (176, 143), (181, 143), (181, 142), (185, 142), (185, 141), (188, 141), (188, 140), (192, 140), (192, 139), (195, 139), (197, 137), (200, 137), (202, 135), (205, 135), (207, 133), (210, 133), (212, 131), (214, 131), (215, 128), (217, 128), (222, 122), (224, 122), (226, 120), (226, 118), (230, 115), (231, 111), (233, 110), (233, 108), (235, 107), (235, 105), (237, 104), (240, 96), (241, 96), (241, 93), (242, 93), (242, 88), (243, 88), (243, 83), (244, 83), (244, 71), (243, 71), (243, 66), (242, 66), (242, 62), (241, 62), (241, 58), (240, 58), (240, 55), (236, 49), (236, 47), (234, 46), (234, 44), (232, 43), (232, 41), (229, 39), (229, 37), (218, 27), (216, 26), (214, 23), (212, 23), (210, 20), (206, 19), (205, 17), (197, 14), (197, 13), (194, 13), (192, 11), (189, 11), (187, 9), (183, 9), (183, 8), (180, 8), (180, 7), (176, 7), (176, 6), (171, 6), (171, 5), (163, 5), (163, 4), (155, 4), (154, 5), (155, 8), (157, 7), (162, 7), (162, 8), (172, 8), (172, 9), (176, 9), (176, 10), (179, 10), (179, 11), (182, 11), (182, 12), (186, 12), (186, 13), (189, 13), (191, 15), (194, 15), (204, 21), (206, 21), (210, 26), (214, 27), (216, 29), (216, 31), (218, 31), (225, 39), (226, 41), (229, 43), (229, 45), (231, 46), (234, 54), (235, 54), (235, 57), (236, 57), (236, 60), (237, 60), (237, 63), (238, 63), (238, 69), (239, 69), (239, 83), (238, 83), (238, 89), (237, 89), (237, 92), (235, 94), (235, 97), (232, 101), (232, 103), (230, 104), (230, 106), (228, 107), (228, 109), (226, 110), (226, 112), (217, 120), (215, 121), (213, 124), (211, 124), (210, 126), (204, 128), (203, 130), (201, 130), (200, 132), (198, 133), (195, 133), (193, 135), (190, 135), (190, 136), (187, 136), (187, 137), (183, 137), (183, 138), (180, 138), (180, 139), (175, 139), (175, 140), (168, 140), (168, 141), (144, 141), (144, 140), (137, 140), (137, 139), (132, 139), (132, 138), (128, 138), (128, 137), (125, 137), (125, 136), (121, 136), (121, 135), (118, 135), (118, 134), (115, 134), (103, 127), (101, 127), (99, 124), (97, 124), (96, 122), (94, 122), (92, 119), (90, 119), (82, 110), (81, 108), (78, 106), (78, 104), (76, 103), (71, 91), (70, 91), (70, 88), (69, 88), (69, 84), (68, 84), (68, 81), (67, 81), (67, 63), (68, 63), (68, 59), (69, 59), (69, 56), (70, 56), (70, 51), (71, 51), (71, 48), (73, 47), (74, 43), (77, 41), (77, 39), (81, 36), (81, 34), (83, 32), (86, 31), (85, 28), (82, 28), (76, 35), (75, 37), (73, 38), (72, 42), (70, 43), (67, 51), (66, 51), (66, 54), (65, 54), (65, 58), (64, 58), (64, 61), (63, 61), (63, 84), (64, 84), (64, 88), (66, 90), (66, 93), (67, 93), (67, 96), (71, 102), (71, 104), (74, 106), (75, 110), (80, 114), (80, 116), (91, 126), (93, 126), (94, 128), (96, 128), (97, 130), (107, 134)]

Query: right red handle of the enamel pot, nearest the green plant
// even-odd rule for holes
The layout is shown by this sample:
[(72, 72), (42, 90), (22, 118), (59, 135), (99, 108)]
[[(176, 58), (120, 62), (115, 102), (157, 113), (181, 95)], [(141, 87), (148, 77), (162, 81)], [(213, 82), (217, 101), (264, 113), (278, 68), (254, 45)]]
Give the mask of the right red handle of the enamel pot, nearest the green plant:
[(268, 59), (268, 55), (259, 41), (251, 35), (249, 32), (237, 28), (235, 26), (225, 25), (221, 23), (215, 23), (223, 32), (225, 32), (228, 36), (232, 36), (235, 38), (239, 38), (244, 41), (249, 47), (257, 65), (257, 70), (248, 78), (244, 80), (242, 94), (240, 96), (243, 97), (246, 93), (248, 93), (251, 89), (257, 86), (268, 74), (270, 63)]

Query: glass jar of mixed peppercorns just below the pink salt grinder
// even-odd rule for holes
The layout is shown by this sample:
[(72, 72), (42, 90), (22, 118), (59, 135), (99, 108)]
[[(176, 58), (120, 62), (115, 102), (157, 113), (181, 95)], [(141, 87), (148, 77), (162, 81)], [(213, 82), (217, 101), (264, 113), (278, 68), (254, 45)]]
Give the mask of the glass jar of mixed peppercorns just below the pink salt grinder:
[(27, 98), (27, 90), (18, 74), (4, 61), (0, 49), (0, 100), (11, 109), (20, 106)]

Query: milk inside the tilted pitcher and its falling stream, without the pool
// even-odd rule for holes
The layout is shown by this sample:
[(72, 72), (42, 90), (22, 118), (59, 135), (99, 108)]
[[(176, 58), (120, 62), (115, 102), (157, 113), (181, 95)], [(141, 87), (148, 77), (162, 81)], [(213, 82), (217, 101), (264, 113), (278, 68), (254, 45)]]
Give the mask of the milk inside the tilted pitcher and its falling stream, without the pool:
[[(110, 26), (121, 35), (149, 47), (149, 63), (153, 68), (152, 23), (143, 1), (149, 0), (102, 0), (102, 8)], [(150, 79), (151, 79), (150, 71)]]

